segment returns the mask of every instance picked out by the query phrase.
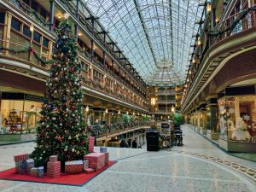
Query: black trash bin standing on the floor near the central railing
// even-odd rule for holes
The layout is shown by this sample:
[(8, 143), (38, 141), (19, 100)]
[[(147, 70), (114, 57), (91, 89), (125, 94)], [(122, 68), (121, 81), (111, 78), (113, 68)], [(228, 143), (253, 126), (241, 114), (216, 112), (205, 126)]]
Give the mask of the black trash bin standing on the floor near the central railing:
[(158, 151), (159, 150), (159, 132), (154, 130), (149, 130), (146, 132), (147, 139), (147, 150), (148, 151)]

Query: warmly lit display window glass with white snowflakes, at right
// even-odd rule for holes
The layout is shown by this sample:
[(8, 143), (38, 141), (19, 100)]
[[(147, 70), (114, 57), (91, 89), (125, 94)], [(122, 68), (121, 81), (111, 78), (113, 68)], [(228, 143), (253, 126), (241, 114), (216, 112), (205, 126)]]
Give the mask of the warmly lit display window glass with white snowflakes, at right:
[(256, 143), (256, 96), (224, 96), (218, 99), (218, 111), (221, 137)]

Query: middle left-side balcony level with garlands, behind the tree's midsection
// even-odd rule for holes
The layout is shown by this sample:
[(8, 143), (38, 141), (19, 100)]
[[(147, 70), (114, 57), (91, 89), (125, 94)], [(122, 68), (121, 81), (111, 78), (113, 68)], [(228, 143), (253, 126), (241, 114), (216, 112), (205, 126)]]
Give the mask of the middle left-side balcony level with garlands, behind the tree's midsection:
[[(32, 31), (30, 23), (15, 15), (2, 13), (0, 16), (3, 18), (0, 20), (0, 67), (38, 79), (47, 79), (55, 35), (42, 32), (42, 28), (34, 27)], [(6, 24), (5, 19), (8, 20)], [(144, 96), (138, 94), (139, 91), (133, 84), (127, 83), (108, 67), (103, 67), (99, 61), (91, 60), (90, 54), (79, 51), (79, 56), (84, 64), (81, 72), (84, 87), (148, 111)]]

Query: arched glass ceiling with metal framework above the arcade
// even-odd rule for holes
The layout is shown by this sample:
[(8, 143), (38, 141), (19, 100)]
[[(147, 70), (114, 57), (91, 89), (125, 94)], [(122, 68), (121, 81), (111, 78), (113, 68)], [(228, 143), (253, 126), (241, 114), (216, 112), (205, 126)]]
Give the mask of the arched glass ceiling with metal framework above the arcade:
[(149, 85), (183, 84), (199, 0), (84, 0)]

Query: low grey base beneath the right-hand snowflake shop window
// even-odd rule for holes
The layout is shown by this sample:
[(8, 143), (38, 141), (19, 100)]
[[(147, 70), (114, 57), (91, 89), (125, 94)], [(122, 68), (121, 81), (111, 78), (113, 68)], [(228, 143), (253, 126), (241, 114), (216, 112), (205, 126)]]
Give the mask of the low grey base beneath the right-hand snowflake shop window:
[(256, 153), (256, 143), (230, 142), (223, 138), (219, 138), (218, 143), (228, 152)]

